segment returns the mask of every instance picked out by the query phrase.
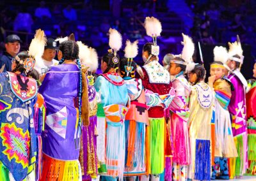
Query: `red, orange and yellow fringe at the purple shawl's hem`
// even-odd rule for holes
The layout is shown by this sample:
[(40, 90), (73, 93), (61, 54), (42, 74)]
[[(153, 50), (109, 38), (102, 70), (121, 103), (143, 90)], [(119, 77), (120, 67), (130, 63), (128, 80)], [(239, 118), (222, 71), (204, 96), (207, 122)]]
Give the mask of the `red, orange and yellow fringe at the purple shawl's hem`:
[(43, 154), (43, 171), (40, 180), (79, 180), (79, 162), (62, 161)]

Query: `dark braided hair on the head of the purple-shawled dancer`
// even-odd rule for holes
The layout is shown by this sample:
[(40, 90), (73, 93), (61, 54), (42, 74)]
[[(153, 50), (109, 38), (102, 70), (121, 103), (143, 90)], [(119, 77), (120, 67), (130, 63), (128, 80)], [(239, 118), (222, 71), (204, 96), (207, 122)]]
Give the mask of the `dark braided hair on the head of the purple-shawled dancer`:
[(60, 51), (62, 52), (62, 59), (75, 60), (78, 59), (79, 47), (76, 41), (67, 40), (60, 43)]

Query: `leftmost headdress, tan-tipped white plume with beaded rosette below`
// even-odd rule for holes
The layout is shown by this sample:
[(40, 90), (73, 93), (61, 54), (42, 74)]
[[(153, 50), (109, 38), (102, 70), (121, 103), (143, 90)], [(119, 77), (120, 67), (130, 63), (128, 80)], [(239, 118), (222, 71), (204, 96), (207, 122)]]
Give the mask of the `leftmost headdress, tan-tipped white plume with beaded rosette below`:
[(15, 57), (15, 59), (20, 62), (20, 64), (24, 64), (26, 73), (28, 73), (28, 71), (32, 71), (35, 67), (35, 59), (40, 60), (40, 58), (44, 54), (44, 47), (46, 45), (46, 41), (47, 39), (45, 37), (44, 31), (41, 29), (36, 30), (35, 37), (29, 45), (29, 58), (27, 58), (26, 60), (21, 60), (18, 55)]

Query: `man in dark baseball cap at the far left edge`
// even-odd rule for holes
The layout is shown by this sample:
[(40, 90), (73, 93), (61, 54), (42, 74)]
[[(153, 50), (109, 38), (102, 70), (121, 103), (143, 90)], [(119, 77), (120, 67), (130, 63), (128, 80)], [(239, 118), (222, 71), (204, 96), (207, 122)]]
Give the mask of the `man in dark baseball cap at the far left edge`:
[(0, 69), (1, 71), (12, 71), (12, 59), (20, 51), (21, 40), (16, 34), (10, 34), (5, 39), (6, 51), (0, 57)]

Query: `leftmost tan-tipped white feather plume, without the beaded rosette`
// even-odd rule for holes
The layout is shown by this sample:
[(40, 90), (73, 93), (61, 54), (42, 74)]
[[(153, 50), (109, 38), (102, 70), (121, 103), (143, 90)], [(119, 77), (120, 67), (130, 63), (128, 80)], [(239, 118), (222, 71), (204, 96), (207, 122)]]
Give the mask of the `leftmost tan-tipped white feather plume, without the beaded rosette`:
[(36, 30), (35, 38), (33, 38), (29, 45), (28, 54), (36, 59), (41, 58), (44, 54), (46, 41), (44, 31), (41, 29)]

